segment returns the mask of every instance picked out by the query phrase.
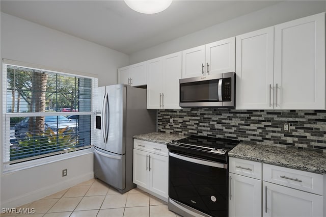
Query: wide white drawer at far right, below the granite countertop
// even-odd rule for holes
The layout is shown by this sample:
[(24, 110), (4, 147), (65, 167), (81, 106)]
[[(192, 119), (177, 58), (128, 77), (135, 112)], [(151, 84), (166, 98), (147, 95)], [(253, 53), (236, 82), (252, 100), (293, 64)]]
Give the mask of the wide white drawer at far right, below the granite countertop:
[(323, 176), (301, 170), (263, 164), (263, 180), (301, 191), (323, 195)]

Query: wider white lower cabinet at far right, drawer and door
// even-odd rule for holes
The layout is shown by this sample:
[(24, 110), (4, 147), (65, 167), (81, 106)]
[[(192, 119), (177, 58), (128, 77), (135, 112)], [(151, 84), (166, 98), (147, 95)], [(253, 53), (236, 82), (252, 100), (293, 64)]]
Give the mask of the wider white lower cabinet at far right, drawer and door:
[(321, 217), (323, 175), (263, 164), (263, 216)]

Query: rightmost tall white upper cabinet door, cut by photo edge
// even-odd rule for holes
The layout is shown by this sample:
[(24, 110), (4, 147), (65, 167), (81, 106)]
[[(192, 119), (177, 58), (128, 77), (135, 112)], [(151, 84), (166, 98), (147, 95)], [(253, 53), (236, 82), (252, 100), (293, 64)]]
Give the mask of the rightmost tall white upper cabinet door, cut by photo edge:
[(325, 108), (324, 29), (324, 13), (275, 26), (274, 108)]

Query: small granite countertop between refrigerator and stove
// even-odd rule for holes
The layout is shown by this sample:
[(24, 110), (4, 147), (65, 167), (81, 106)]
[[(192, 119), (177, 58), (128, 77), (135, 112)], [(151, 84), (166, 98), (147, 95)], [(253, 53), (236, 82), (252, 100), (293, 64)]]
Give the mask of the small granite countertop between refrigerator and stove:
[(165, 132), (150, 132), (141, 135), (134, 135), (133, 139), (149, 141), (153, 143), (168, 144), (172, 140), (180, 140), (186, 138), (186, 135), (165, 133)]

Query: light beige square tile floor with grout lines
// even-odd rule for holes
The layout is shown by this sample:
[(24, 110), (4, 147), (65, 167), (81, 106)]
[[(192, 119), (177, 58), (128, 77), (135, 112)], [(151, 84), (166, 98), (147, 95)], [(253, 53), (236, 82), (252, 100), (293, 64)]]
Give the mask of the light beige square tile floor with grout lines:
[(179, 217), (168, 210), (166, 202), (133, 188), (120, 194), (104, 182), (91, 179), (64, 191), (25, 204), (34, 214), (3, 214), (1, 216), (44, 217)]

